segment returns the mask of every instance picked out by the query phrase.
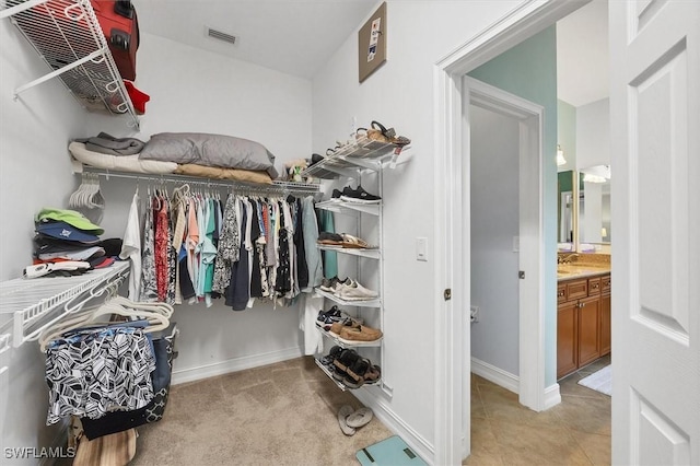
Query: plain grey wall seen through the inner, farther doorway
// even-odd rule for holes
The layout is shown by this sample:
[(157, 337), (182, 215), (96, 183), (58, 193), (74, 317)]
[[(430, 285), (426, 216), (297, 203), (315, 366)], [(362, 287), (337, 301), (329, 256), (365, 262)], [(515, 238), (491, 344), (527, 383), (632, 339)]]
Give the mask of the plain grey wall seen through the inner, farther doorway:
[(509, 374), (518, 361), (518, 144), (517, 120), (471, 105), (471, 359)]

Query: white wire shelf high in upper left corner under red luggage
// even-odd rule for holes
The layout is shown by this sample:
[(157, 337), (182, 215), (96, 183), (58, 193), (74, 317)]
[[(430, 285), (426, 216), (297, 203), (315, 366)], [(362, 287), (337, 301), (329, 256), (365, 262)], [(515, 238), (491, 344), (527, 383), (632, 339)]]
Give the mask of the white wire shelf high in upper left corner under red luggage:
[(51, 72), (14, 91), (14, 97), (59, 78), (89, 110), (139, 119), (90, 0), (5, 0), (0, 20), (10, 18)]

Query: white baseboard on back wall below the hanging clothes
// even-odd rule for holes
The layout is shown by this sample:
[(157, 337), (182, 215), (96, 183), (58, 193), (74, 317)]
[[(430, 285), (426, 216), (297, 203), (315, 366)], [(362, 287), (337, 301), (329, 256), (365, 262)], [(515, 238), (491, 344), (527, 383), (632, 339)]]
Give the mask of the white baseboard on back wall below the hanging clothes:
[(197, 368), (174, 370), (171, 384), (177, 385), (186, 382), (199, 381), (217, 375), (229, 374), (231, 372), (243, 371), (245, 369), (259, 368), (260, 365), (301, 358), (302, 356), (304, 356), (302, 348), (296, 347), (266, 352), (262, 354), (244, 356)]

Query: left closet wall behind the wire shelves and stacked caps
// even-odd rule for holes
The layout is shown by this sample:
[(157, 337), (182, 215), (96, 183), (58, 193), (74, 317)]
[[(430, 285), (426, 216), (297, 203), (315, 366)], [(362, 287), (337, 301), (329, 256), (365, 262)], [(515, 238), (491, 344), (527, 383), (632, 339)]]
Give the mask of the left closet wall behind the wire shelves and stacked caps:
[[(0, 280), (22, 276), (32, 263), (33, 215), (44, 206), (62, 206), (73, 190), (66, 142), (78, 137), (86, 115), (58, 81), (30, 89), (13, 101), (14, 89), (46, 74), (48, 67), (20, 36), (10, 20), (0, 21)], [(0, 325), (11, 318), (2, 308)], [(5, 330), (3, 329), (2, 333)], [(0, 356), (0, 463), (5, 447), (49, 446), (59, 433), (46, 427), (47, 386), (44, 358), (36, 343)]]

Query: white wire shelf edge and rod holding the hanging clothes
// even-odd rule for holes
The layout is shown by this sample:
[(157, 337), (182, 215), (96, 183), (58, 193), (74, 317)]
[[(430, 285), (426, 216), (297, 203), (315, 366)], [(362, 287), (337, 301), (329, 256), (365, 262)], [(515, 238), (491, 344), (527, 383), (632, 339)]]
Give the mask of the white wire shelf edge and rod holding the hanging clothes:
[(145, 182), (155, 182), (155, 183), (182, 183), (182, 184), (190, 184), (190, 185), (200, 185), (205, 187), (218, 186), (232, 188), (234, 190), (254, 190), (256, 193), (300, 193), (300, 194), (316, 194), (319, 190), (319, 185), (317, 184), (307, 184), (307, 183), (295, 183), (295, 182), (272, 182), (271, 185), (259, 185), (254, 183), (245, 183), (245, 182), (235, 182), (235, 180), (222, 180), (222, 179), (209, 179), (209, 178), (199, 178), (196, 176), (187, 176), (187, 175), (175, 175), (175, 174), (166, 174), (166, 175), (156, 175), (156, 174), (141, 174), (141, 173), (126, 173), (126, 172), (112, 172), (108, 170), (93, 168), (90, 166), (83, 166), (84, 173), (93, 173), (98, 176), (104, 176), (105, 179), (109, 179), (110, 176), (117, 178), (130, 178)]

